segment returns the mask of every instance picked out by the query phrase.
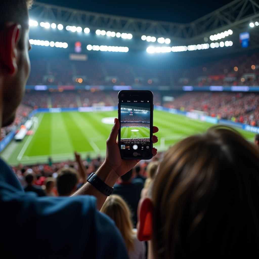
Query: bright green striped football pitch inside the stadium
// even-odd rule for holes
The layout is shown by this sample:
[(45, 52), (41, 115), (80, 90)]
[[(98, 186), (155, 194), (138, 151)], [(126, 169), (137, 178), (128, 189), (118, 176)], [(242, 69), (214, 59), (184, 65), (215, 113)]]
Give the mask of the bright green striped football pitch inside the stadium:
[[(10, 165), (46, 163), (48, 157), (54, 162), (74, 159), (74, 151), (85, 158), (105, 155), (106, 139), (111, 131), (117, 110), (112, 112), (62, 112), (38, 113), (34, 134), (23, 141), (14, 140), (0, 154)], [(154, 110), (154, 125), (159, 127), (156, 135), (159, 151), (168, 149), (176, 141), (191, 134), (205, 132), (213, 124), (189, 119), (182, 115)], [(130, 128), (128, 128), (130, 129)], [(136, 129), (136, 128), (133, 128)], [(139, 128), (139, 132), (143, 128)], [(147, 129), (148, 130), (148, 129)], [(142, 133), (141, 134), (144, 134)], [(125, 130), (126, 132), (126, 130)], [(131, 131), (130, 131), (131, 132)], [(250, 141), (254, 133), (240, 132)], [(126, 133), (132, 136), (132, 133)], [(139, 135), (140, 133), (138, 133)]]

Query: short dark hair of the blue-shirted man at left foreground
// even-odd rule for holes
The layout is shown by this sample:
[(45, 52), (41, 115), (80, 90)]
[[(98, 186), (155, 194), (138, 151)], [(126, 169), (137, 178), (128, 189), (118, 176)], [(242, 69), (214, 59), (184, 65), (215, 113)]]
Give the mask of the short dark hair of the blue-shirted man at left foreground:
[[(19, 23), (22, 28), (22, 35), (29, 27), (29, 13), (33, 0), (1, 0), (0, 1), (0, 31), (8, 22)], [(20, 47), (21, 40), (19, 41)]]

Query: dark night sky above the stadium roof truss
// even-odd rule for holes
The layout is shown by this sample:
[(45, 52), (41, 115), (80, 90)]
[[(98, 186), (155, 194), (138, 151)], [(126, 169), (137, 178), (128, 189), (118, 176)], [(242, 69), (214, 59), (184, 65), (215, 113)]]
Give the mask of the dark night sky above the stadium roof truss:
[(217, 1), (57, 1), (57, 0), (38, 0), (38, 2), (61, 5), (74, 9), (107, 13), (111, 15), (171, 21), (177, 23), (188, 23), (210, 13), (221, 6), (230, 3), (229, 0)]

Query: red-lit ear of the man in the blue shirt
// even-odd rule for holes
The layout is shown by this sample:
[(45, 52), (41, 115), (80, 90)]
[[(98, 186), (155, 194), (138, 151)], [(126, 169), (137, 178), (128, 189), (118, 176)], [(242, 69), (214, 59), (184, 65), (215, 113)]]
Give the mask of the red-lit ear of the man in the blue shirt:
[(6, 25), (0, 32), (0, 62), (9, 75), (17, 72), (21, 25)]

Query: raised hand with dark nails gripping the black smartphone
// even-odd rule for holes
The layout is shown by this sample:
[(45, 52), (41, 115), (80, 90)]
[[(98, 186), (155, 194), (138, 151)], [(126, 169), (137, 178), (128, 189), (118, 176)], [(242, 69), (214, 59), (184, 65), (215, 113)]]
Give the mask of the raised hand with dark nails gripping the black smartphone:
[[(132, 169), (140, 160), (132, 159), (126, 160), (121, 159), (120, 150), (118, 146), (117, 136), (120, 129), (120, 123), (117, 118), (114, 119), (114, 125), (110, 133), (109, 138), (106, 141), (106, 158), (104, 164), (109, 166), (112, 170), (116, 172), (118, 177), (126, 174), (130, 169)], [(158, 132), (157, 127), (153, 127), (153, 133)], [(158, 141), (157, 136), (153, 135), (151, 138), (153, 143)], [(157, 149), (152, 149), (152, 155), (155, 156)]]

